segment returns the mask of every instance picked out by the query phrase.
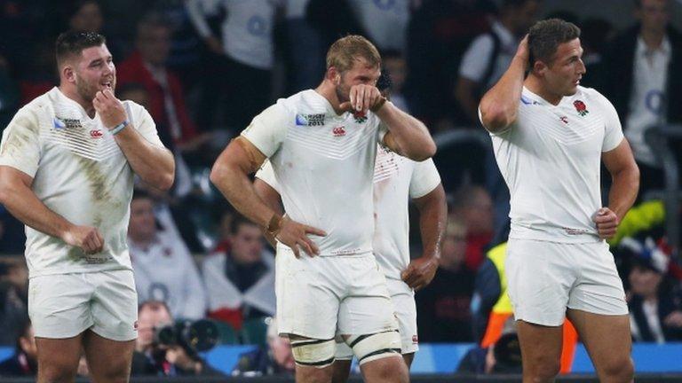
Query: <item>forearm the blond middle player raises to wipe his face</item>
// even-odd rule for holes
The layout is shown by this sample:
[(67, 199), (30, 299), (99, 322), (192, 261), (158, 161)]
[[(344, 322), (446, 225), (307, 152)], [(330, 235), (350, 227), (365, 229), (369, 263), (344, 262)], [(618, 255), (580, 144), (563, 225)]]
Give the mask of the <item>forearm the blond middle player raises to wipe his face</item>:
[(377, 111), (377, 116), (388, 125), (401, 155), (422, 161), (436, 153), (436, 144), (422, 121), (402, 112), (390, 101)]

